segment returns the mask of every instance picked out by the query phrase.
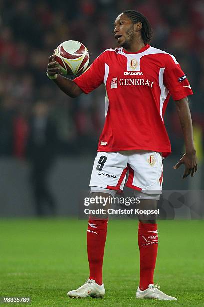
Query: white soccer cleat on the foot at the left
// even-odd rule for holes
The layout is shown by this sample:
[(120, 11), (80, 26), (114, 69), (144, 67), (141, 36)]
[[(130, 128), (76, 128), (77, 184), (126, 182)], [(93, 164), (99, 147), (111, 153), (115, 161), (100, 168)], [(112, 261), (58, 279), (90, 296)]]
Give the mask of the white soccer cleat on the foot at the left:
[(71, 298), (85, 298), (91, 296), (93, 298), (103, 298), (105, 295), (104, 284), (97, 284), (95, 280), (88, 279), (80, 288), (67, 293)]

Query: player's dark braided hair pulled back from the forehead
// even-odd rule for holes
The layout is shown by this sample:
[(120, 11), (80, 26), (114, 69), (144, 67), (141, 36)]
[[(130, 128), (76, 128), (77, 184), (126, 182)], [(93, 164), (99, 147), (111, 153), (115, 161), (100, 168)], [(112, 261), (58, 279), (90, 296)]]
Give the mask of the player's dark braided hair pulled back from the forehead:
[(125, 10), (121, 14), (125, 14), (134, 24), (138, 22), (142, 23), (141, 36), (144, 44), (148, 44), (151, 41), (153, 33), (148, 19), (140, 12), (134, 10)]

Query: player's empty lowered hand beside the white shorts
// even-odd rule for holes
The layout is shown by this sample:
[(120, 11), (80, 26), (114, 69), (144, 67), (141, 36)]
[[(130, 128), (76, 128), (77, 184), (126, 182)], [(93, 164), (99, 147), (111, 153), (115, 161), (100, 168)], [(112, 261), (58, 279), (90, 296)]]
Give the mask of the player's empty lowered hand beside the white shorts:
[(186, 178), (188, 175), (193, 174), (197, 171), (197, 156), (196, 152), (185, 153), (179, 162), (173, 167), (174, 169), (178, 169), (181, 164), (185, 165), (185, 172), (183, 174), (183, 178)]

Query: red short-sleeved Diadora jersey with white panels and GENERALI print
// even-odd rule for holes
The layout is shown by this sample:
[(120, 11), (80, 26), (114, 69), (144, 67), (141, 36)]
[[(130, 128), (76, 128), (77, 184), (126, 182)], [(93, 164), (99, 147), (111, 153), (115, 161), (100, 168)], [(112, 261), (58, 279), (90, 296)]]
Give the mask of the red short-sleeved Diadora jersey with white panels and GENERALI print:
[(180, 100), (193, 92), (175, 57), (145, 45), (136, 53), (107, 49), (73, 80), (88, 94), (106, 87), (106, 120), (98, 151), (171, 152), (163, 116), (170, 95)]

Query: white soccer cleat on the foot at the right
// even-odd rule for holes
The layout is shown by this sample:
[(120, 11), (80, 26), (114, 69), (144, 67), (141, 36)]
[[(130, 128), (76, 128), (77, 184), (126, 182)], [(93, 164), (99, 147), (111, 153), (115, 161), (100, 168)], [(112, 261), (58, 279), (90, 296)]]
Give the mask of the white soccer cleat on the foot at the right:
[(149, 284), (148, 289), (141, 291), (138, 287), (136, 292), (136, 298), (154, 298), (159, 300), (176, 300), (177, 298), (169, 296), (159, 290), (160, 287), (158, 284)]

